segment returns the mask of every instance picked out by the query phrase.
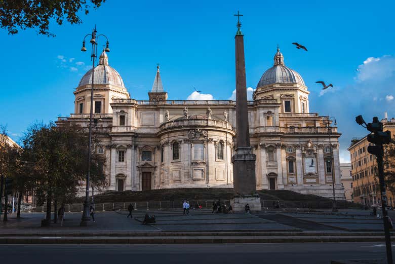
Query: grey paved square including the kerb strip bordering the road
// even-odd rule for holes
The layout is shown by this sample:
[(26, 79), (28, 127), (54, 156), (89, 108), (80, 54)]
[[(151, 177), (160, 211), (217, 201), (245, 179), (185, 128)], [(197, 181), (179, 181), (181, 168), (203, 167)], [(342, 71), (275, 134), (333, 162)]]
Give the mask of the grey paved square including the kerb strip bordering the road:
[[(142, 224), (145, 213), (154, 214), (156, 223)], [(211, 210), (190, 213), (138, 210), (131, 219), (127, 218), (127, 211), (98, 212), (95, 222), (80, 227), (82, 213), (66, 212), (63, 227), (52, 223), (48, 228), (40, 226), (44, 213), (22, 213), (20, 220), (12, 214), (9, 222), (0, 222), (0, 244), (384, 241), (382, 221), (370, 216), (289, 212), (213, 214)]]

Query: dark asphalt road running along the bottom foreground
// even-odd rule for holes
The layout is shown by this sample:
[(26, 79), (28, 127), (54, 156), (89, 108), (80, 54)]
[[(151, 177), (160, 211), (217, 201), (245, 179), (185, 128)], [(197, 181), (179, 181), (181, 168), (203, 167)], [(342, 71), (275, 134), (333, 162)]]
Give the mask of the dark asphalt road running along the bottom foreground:
[(385, 246), (381, 243), (0, 246), (0, 263), (23, 264), (329, 264), (331, 259), (384, 257)]

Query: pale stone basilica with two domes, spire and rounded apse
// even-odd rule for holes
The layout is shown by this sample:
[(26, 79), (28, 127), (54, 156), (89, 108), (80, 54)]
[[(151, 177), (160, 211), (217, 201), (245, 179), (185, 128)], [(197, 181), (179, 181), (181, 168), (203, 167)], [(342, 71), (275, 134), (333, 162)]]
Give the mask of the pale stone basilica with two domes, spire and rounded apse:
[[(159, 66), (149, 100), (132, 99), (104, 51), (93, 82), (94, 147), (106, 158), (107, 191), (233, 187), (235, 101), (169, 100)], [(74, 90), (75, 114), (58, 124), (89, 126), (91, 85), (89, 70)], [(336, 198), (344, 200), (340, 133), (331, 127), (331, 147), (323, 117), (309, 111), (308, 94), (278, 49), (248, 101), (257, 190), (331, 198), (334, 178)]]

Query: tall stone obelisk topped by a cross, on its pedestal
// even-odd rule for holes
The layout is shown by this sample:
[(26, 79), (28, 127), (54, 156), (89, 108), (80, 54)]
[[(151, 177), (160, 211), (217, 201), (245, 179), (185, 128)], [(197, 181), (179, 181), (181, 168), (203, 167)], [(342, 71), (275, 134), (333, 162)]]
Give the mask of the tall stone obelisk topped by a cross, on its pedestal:
[(256, 193), (255, 161), (250, 146), (248, 124), (246, 65), (244, 61), (244, 38), (238, 12), (238, 31), (234, 37), (236, 52), (236, 154), (232, 157), (234, 198), (231, 205), (234, 211), (243, 211), (246, 204), (251, 211), (262, 209), (260, 197)]

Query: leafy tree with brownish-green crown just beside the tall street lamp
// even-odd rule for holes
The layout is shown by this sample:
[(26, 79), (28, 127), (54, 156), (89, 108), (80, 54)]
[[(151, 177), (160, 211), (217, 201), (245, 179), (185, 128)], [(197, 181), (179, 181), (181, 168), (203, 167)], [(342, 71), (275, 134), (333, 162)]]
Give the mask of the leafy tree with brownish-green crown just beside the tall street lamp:
[[(51, 205), (70, 203), (85, 182), (87, 173), (88, 140), (86, 130), (65, 124), (34, 125), (23, 139), (29, 163), (34, 164), (37, 204), (47, 205), (46, 222), (51, 220)], [(103, 157), (92, 159), (95, 184), (105, 184), (105, 175), (99, 173)], [(97, 170), (97, 172), (96, 172)], [(55, 218), (56, 219), (56, 218)]]

